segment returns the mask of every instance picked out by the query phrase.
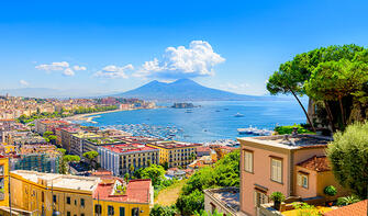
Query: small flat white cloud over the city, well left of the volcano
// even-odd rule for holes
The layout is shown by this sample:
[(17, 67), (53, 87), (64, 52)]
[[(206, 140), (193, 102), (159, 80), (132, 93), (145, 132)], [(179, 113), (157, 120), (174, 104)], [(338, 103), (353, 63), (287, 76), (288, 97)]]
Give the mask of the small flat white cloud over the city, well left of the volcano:
[(38, 70), (45, 70), (47, 72), (51, 71), (62, 71), (63, 75), (68, 76), (68, 77), (73, 77), (75, 76), (75, 71), (79, 71), (79, 70), (87, 70), (87, 68), (85, 66), (70, 66), (69, 62), (67, 61), (59, 61), (59, 62), (52, 62), (52, 64), (43, 64), (43, 65), (38, 65), (35, 67)]

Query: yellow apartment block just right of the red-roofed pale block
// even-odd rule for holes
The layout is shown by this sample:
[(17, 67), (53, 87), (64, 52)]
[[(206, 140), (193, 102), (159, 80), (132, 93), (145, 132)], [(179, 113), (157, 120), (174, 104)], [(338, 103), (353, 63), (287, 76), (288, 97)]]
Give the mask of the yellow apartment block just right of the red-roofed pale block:
[(199, 144), (181, 141), (157, 141), (147, 146), (159, 149), (159, 162), (167, 163), (168, 168), (185, 167), (197, 158), (197, 147)]

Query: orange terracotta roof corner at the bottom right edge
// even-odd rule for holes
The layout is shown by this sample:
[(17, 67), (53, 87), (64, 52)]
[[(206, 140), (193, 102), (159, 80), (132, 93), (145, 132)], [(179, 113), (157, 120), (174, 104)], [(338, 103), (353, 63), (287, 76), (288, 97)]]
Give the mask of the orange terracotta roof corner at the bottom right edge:
[(345, 215), (354, 215), (354, 216), (367, 216), (367, 200), (360, 201), (358, 203), (341, 207), (328, 213), (325, 213), (324, 216), (345, 216)]

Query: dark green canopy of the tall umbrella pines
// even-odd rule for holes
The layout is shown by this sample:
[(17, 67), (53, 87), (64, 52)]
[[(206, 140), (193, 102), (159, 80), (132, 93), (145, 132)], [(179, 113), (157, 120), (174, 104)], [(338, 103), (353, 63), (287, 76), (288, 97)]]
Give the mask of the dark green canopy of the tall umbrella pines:
[[(367, 68), (368, 49), (361, 46), (350, 44), (321, 47), (281, 64), (279, 70), (269, 77), (267, 90), (271, 94), (292, 93), (297, 100), (297, 95), (306, 94), (314, 102), (323, 101), (327, 105), (322, 109), (328, 113), (323, 117), (328, 116), (332, 128), (337, 123), (344, 128), (355, 103), (360, 109), (363, 120), (366, 118)], [(335, 107), (336, 103), (339, 111)]]

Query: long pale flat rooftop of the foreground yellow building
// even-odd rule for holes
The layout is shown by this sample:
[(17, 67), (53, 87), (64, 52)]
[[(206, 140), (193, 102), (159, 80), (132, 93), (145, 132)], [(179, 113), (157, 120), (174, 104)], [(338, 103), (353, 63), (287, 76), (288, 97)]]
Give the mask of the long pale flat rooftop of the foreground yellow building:
[(47, 182), (47, 186), (69, 190), (82, 190), (92, 192), (100, 182), (100, 179), (96, 177), (77, 177), (25, 170), (15, 170), (11, 172), (35, 183), (38, 183), (38, 179), (41, 179)]

